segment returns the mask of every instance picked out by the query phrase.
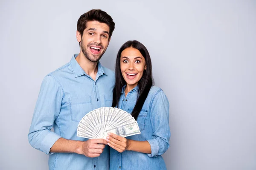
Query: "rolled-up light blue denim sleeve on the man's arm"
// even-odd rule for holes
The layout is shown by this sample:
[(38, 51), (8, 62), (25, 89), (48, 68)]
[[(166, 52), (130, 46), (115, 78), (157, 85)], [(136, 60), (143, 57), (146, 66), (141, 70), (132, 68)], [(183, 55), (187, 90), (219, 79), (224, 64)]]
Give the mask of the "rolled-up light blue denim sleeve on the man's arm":
[(58, 81), (49, 75), (45, 77), (36, 102), (28, 139), (32, 147), (46, 154), (49, 154), (52, 145), (61, 138), (50, 130), (60, 113), (63, 97), (64, 92)]

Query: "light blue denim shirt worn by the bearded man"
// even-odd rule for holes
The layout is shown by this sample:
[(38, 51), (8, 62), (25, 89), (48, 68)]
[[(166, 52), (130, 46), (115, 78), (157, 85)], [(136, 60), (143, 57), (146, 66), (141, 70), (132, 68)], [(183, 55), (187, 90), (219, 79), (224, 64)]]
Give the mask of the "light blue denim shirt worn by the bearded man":
[(60, 137), (88, 140), (76, 136), (81, 118), (93, 109), (112, 105), (113, 71), (98, 62), (94, 81), (80, 67), (76, 57), (77, 54), (44, 78), (29, 129), (29, 143), (49, 154), (49, 170), (105, 170), (109, 168), (108, 146), (96, 158), (76, 153), (49, 153)]

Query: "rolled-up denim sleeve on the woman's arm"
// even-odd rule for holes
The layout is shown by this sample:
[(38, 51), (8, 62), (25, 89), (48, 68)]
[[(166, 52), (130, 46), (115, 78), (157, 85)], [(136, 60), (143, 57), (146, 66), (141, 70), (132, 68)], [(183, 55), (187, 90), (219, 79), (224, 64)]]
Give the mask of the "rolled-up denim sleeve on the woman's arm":
[(151, 146), (150, 157), (162, 155), (169, 148), (170, 127), (169, 127), (169, 101), (162, 90), (157, 91), (150, 105), (150, 119), (153, 128), (151, 139), (148, 143)]

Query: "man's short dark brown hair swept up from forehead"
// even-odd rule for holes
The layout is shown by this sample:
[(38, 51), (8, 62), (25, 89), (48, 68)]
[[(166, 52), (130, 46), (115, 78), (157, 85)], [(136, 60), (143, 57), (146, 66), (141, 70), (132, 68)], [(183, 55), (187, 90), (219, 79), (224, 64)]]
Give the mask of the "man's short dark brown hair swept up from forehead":
[[(88, 21), (98, 21), (100, 23), (105, 23), (109, 26), (109, 38), (115, 29), (115, 23), (112, 17), (101, 9), (92, 9), (80, 16), (77, 21), (77, 31), (83, 36), (84, 29), (87, 27)], [(80, 46), (80, 43), (79, 43)]]

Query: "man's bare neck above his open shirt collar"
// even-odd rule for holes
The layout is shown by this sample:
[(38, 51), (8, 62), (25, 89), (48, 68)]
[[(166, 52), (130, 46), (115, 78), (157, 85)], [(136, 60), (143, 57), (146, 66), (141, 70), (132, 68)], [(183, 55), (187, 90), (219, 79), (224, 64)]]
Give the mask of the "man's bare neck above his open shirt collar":
[(81, 51), (76, 57), (76, 61), (79, 63), (80, 67), (84, 70), (86, 74), (92, 77), (92, 79), (96, 79), (96, 74), (98, 72), (98, 62), (90, 61), (84, 56), (84, 54)]

